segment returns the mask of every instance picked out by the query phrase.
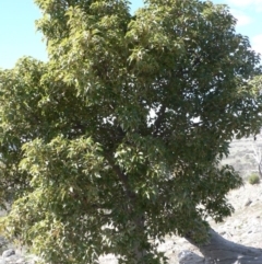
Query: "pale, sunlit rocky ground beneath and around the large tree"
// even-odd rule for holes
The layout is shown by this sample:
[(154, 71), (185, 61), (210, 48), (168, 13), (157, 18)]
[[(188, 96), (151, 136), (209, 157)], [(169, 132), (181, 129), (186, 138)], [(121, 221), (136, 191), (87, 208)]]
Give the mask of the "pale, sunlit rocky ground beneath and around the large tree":
[[(239, 190), (231, 191), (228, 200), (235, 208), (234, 215), (221, 223), (210, 219), (212, 228), (236, 243), (262, 249), (262, 183), (258, 185), (246, 183)], [(159, 250), (166, 252), (170, 264), (179, 263), (178, 255), (179, 253), (181, 255), (181, 252), (190, 251), (201, 255), (186, 239), (175, 236), (167, 238)], [(5, 246), (5, 251), (0, 256), (0, 264), (34, 264), (35, 261), (35, 256), (25, 255), (11, 245)], [(117, 263), (112, 255), (100, 257), (100, 264)]]

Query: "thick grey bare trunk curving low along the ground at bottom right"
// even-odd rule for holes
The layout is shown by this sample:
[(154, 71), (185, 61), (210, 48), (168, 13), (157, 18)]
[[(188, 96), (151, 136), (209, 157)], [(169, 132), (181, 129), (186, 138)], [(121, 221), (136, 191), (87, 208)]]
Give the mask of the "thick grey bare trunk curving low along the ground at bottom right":
[[(196, 245), (203, 254), (202, 261), (195, 254), (180, 254), (179, 264), (262, 264), (262, 249), (245, 246), (221, 237), (213, 229), (210, 231), (211, 240), (204, 245)], [(190, 243), (195, 244), (188, 239)], [(198, 262), (194, 262), (198, 259)]]

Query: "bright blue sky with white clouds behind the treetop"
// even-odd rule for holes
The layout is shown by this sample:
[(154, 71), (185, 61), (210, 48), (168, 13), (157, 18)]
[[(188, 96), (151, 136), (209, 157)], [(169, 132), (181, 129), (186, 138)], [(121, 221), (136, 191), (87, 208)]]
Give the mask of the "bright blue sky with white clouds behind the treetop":
[[(143, 7), (143, 0), (130, 0), (131, 12)], [(188, 0), (190, 1), (190, 0)], [(262, 0), (213, 0), (225, 3), (238, 20), (237, 32), (250, 38), (252, 48), (262, 54)], [(13, 68), (23, 56), (47, 60), (41, 34), (35, 20), (41, 13), (34, 0), (0, 0), (0, 68)]]

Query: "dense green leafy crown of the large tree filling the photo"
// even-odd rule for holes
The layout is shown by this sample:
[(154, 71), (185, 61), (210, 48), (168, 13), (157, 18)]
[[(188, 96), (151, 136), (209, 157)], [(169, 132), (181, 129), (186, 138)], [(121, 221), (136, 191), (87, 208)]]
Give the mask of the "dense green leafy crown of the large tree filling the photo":
[(36, 0), (49, 61), (1, 70), (8, 232), (46, 262), (159, 263), (167, 233), (209, 238), (241, 185), (219, 164), (257, 134), (259, 56), (224, 5)]

